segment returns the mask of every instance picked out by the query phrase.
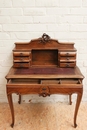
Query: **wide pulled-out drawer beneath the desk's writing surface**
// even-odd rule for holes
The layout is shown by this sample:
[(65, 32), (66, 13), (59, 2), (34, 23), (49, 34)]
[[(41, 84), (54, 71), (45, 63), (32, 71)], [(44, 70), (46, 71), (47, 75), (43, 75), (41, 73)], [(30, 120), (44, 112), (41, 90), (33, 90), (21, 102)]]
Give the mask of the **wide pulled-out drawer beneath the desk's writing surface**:
[[(39, 84), (38, 81), (13, 81), (9, 80), (6, 84), (7, 93), (15, 92), (20, 94), (39, 94), (46, 97), (51, 94), (76, 92), (75, 89), (82, 89), (82, 82), (79, 79), (60, 79), (61, 84), (57, 82), (52, 83), (51, 80), (45, 80), (44, 83)], [(42, 81), (43, 82), (43, 81)], [(49, 83), (47, 83), (49, 82)], [(54, 81), (53, 81), (54, 82)]]

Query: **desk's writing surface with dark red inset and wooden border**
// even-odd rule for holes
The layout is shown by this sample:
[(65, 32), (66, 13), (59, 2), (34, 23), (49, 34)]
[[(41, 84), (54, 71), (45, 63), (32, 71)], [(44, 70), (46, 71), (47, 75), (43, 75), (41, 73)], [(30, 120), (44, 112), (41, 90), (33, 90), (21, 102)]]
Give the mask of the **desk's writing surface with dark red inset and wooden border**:
[(10, 78), (84, 78), (78, 67), (75, 68), (13, 68), (6, 79)]

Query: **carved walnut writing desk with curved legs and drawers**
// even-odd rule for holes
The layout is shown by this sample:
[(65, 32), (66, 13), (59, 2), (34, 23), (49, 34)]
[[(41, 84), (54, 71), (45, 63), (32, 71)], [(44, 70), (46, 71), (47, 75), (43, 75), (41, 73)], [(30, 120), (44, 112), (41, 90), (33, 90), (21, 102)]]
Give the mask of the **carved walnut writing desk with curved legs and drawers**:
[(7, 97), (14, 126), (14, 108), (12, 94), (19, 94), (19, 103), (23, 94), (71, 95), (77, 93), (74, 113), (74, 127), (83, 94), (84, 76), (76, 66), (74, 43), (59, 43), (47, 34), (29, 43), (15, 43), (13, 66), (6, 75)]

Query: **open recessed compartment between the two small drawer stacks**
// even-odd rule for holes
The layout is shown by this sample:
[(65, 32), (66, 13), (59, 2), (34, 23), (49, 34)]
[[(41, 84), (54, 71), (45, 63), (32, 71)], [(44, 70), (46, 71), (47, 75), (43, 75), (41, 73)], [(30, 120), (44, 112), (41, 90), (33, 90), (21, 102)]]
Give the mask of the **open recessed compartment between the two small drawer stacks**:
[(57, 66), (58, 50), (32, 50), (32, 66)]

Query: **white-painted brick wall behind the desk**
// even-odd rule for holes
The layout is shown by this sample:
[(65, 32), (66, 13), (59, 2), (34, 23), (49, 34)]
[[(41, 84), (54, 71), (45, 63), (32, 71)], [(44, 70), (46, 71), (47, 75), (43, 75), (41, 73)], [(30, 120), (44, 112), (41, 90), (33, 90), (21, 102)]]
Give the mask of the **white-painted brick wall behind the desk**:
[[(47, 33), (74, 42), (77, 65), (85, 76), (87, 101), (87, 0), (0, 0), (0, 102), (7, 102), (5, 75), (12, 66), (14, 42), (30, 41)], [(17, 96), (14, 95), (14, 102)], [(73, 96), (74, 98), (75, 96)], [(68, 101), (68, 96), (23, 96), (23, 102)]]

